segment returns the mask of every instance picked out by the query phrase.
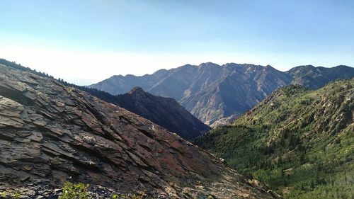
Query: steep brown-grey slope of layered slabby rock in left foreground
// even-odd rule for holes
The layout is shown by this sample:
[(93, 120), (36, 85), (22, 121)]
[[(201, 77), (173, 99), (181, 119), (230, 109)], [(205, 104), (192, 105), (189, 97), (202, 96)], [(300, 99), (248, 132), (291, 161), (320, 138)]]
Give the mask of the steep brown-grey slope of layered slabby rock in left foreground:
[(56, 197), (65, 181), (102, 198), (275, 198), (159, 125), (53, 79), (0, 65), (0, 192)]

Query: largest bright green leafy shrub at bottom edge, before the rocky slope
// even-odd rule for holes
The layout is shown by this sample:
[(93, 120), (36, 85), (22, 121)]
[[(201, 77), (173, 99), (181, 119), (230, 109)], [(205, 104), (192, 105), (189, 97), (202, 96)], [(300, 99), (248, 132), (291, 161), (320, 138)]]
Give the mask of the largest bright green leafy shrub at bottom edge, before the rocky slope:
[(88, 188), (89, 184), (66, 182), (63, 187), (63, 193), (59, 199), (88, 199)]

